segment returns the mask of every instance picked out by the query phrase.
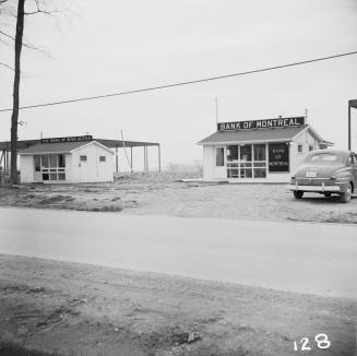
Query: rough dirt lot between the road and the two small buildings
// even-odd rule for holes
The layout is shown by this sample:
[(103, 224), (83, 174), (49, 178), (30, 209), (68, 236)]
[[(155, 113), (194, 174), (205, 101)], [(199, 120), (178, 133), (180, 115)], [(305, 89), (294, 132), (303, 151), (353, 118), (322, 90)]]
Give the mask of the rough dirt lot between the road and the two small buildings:
[(0, 186), (1, 206), (109, 211), (191, 217), (228, 217), (357, 224), (357, 199), (340, 203), (307, 193), (294, 200), (285, 185), (180, 182), (192, 175), (150, 173), (114, 183)]

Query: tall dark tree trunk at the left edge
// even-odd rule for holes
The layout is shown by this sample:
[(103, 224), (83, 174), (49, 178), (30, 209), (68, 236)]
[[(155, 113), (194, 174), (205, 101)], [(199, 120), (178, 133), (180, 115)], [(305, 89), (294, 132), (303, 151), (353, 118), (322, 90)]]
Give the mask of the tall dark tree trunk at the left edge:
[(15, 35), (15, 75), (13, 83), (13, 107), (11, 116), (11, 183), (17, 183), (17, 121), (20, 96), (20, 57), (24, 33), (25, 0), (19, 0)]

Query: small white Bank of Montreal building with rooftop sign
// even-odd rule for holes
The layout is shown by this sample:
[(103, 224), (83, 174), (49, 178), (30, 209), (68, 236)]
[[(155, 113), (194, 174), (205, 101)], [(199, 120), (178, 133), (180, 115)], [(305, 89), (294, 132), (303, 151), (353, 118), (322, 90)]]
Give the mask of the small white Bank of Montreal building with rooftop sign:
[(221, 122), (198, 144), (204, 180), (273, 183), (288, 182), (309, 152), (333, 145), (305, 117)]

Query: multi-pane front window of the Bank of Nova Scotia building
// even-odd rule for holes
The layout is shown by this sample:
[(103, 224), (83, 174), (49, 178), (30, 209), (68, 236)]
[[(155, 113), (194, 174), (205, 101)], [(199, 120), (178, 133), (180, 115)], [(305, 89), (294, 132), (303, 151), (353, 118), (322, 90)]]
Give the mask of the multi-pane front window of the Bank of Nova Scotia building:
[(35, 171), (44, 181), (66, 180), (66, 157), (63, 154), (34, 156)]

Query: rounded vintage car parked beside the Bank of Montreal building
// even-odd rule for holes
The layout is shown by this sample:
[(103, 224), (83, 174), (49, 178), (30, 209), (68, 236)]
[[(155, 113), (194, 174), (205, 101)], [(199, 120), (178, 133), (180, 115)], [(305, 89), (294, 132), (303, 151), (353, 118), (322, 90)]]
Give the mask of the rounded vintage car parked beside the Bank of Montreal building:
[(357, 189), (357, 154), (344, 150), (312, 151), (297, 168), (288, 188), (296, 199), (305, 192), (325, 197), (336, 193), (343, 203), (348, 203)]

